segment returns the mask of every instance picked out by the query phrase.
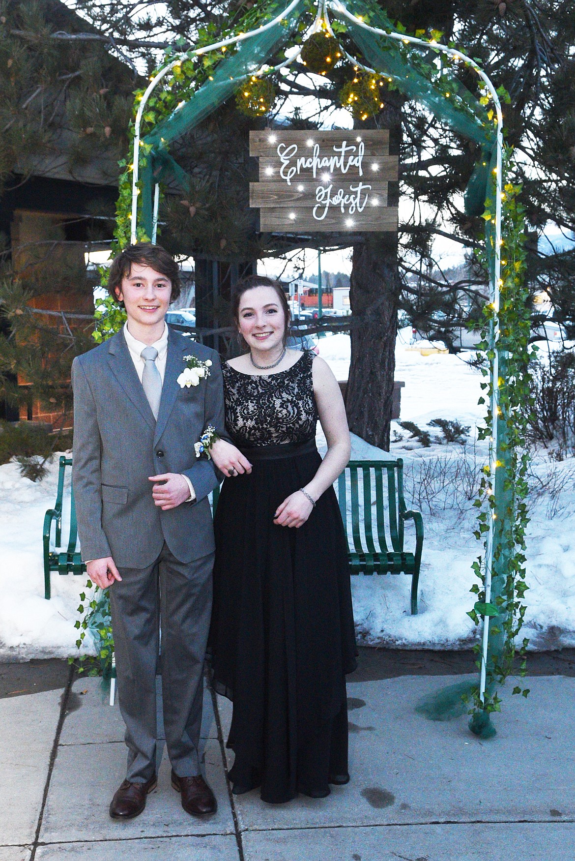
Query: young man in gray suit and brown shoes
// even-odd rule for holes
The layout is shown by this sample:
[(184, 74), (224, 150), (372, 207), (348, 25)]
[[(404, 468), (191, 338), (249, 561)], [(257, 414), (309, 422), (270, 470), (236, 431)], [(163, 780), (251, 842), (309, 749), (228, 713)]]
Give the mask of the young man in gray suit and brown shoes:
[[(88, 576), (110, 590), (126, 722), (127, 776), (110, 815), (139, 815), (156, 786), (160, 629), (171, 783), (184, 810), (208, 815), (216, 800), (201, 777), (198, 745), (212, 606), (207, 494), (218, 478), (194, 446), (208, 426), (224, 428), (219, 356), (166, 325), (180, 280), (176, 262), (160, 246), (122, 251), (108, 289), (126, 308), (127, 323), (74, 360), (72, 385), (78, 534)], [(186, 356), (195, 356), (205, 374), (192, 375), (188, 385), (180, 377)]]

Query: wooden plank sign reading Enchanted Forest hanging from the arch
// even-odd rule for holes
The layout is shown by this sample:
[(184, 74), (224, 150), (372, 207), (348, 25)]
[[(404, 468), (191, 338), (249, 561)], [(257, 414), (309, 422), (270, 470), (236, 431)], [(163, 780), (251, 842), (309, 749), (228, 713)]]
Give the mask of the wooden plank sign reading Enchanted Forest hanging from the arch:
[(262, 232), (397, 231), (398, 208), (387, 206), (387, 183), (399, 159), (389, 155), (386, 129), (250, 132), (259, 183), (250, 207)]

